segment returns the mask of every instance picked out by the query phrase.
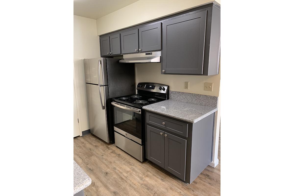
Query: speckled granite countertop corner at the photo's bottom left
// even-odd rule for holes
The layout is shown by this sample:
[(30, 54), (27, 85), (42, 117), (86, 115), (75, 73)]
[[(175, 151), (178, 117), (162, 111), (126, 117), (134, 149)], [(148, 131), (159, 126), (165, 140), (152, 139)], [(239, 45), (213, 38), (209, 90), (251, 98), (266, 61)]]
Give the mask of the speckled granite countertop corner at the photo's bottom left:
[(91, 185), (91, 178), (74, 161), (74, 194)]

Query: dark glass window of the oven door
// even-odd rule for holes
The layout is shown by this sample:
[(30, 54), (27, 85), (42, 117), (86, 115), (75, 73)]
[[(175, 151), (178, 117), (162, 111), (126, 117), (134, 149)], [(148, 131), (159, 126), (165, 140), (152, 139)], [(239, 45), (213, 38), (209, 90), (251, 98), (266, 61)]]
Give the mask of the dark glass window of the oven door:
[(123, 108), (114, 108), (114, 127), (142, 140), (141, 114)]

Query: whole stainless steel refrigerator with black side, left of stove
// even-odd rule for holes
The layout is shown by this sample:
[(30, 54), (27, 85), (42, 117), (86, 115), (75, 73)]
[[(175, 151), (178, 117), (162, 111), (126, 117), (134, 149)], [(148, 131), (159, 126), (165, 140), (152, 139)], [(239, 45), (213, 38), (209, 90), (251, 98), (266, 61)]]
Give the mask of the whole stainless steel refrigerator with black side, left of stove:
[(114, 143), (112, 98), (136, 93), (135, 65), (119, 58), (84, 59), (90, 132)]

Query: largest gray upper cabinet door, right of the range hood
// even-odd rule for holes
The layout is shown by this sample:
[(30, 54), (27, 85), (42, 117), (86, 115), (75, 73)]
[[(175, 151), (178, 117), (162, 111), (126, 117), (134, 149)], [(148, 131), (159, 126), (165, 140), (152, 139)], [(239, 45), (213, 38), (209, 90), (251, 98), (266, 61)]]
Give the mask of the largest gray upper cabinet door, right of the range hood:
[(206, 12), (163, 22), (162, 73), (203, 74)]

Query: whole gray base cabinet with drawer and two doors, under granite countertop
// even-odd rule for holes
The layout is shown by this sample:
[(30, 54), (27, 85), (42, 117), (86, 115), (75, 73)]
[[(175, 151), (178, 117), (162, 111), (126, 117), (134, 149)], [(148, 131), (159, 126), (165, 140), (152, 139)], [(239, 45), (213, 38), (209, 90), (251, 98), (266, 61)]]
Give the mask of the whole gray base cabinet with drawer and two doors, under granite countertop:
[(214, 115), (188, 123), (145, 111), (146, 158), (191, 184), (211, 162)]

